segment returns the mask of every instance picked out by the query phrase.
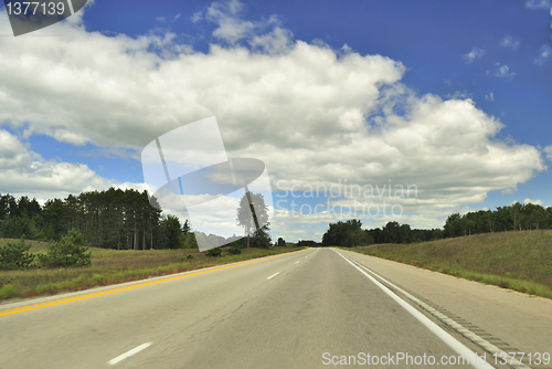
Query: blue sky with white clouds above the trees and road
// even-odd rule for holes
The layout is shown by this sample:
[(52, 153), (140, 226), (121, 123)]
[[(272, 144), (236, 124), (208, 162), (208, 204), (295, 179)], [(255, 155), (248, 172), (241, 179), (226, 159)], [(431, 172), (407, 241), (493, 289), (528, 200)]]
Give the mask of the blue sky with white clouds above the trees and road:
[(0, 193), (147, 189), (142, 149), (215, 116), (229, 157), (266, 165), (273, 238), (552, 205), (551, 20), (548, 0), (96, 0), (14, 38), (2, 8)]

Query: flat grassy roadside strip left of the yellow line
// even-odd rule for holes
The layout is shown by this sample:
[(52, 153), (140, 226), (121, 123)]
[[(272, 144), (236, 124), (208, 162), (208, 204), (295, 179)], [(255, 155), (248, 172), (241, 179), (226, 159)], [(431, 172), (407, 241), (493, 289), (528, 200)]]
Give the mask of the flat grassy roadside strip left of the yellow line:
[[(0, 240), (0, 245), (7, 240)], [(31, 241), (31, 252), (46, 251), (47, 244)], [(223, 249), (224, 250), (224, 249)], [(14, 297), (54, 295), (151, 276), (181, 273), (245, 260), (301, 250), (300, 247), (243, 249), (241, 255), (223, 252), (206, 256), (199, 250), (105, 250), (92, 251), (92, 266), (84, 268), (29, 270), (0, 272), (0, 301)]]

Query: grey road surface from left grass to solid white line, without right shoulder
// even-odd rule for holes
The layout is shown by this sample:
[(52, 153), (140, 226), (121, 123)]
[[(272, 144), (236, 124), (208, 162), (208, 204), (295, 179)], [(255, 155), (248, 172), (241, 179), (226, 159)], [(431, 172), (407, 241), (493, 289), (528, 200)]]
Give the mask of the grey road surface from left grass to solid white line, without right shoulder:
[(391, 358), (370, 367), (473, 367), (458, 352), (482, 355), (478, 345), (417, 306), (408, 310), (415, 304), (403, 306), (404, 296), (344, 256), (371, 257), (351, 254), (311, 249), (92, 297), (0, 305), (0, 368), (369, 367), (367, 354)]

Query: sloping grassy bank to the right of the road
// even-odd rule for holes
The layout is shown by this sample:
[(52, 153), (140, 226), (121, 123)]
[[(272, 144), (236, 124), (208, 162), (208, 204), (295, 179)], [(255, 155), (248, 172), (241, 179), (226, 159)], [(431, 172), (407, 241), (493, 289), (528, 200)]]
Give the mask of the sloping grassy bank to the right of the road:
[(552, 298), (551, 230), (486, 233), (348, 250)]

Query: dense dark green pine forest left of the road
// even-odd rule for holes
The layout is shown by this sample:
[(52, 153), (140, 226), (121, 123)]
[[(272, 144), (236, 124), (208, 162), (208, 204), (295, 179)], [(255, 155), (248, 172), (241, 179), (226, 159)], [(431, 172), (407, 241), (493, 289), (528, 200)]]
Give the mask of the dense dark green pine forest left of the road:
[(36, 199), (0, 197), (0, 236), (57, 241), (70, 229), (81, 231), (91, 246), (105, 249), (197, 247), (188, 221), (161, 215), (147, 191), (120, 190), (70, 194), (40, 205)]

